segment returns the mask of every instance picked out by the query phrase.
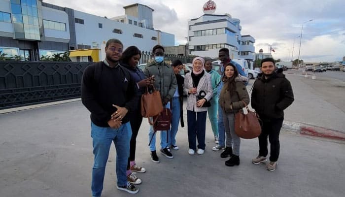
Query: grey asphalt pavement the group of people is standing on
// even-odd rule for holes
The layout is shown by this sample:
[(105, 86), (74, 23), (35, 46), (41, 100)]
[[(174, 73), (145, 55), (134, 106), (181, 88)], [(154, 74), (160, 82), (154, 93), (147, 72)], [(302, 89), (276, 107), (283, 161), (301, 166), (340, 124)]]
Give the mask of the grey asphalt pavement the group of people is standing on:
[[(93, 163), (89, 113), (80, 101), (0, 115), (1, 197), (89, 197)], [(138, 134), (137, 163), (147, 172), (137, 197), (342, 197), (345, 143), (281, 133), (276, 172), (251, 164), (257, 139), (242, 140), (241, 164), (224, 165), (214, 152), (207, 121), (204, 155), (187, 153), (186, 128), (177, 133), (174, 158), (149, 156), (148, 123)], [(157, 143), (158, 148), (158, 143)], [(133, 197), (115, 188), (111, 147), (103, 197)]]

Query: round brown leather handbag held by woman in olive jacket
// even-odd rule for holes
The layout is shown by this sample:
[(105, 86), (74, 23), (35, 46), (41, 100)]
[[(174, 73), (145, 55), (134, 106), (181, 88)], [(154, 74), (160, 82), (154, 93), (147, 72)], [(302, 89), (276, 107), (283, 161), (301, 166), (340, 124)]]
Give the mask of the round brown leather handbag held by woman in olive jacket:
[(244, 108), (235, 114), (235, 132), (237, 136), (244, 139), (253, 139), (261, 134), (260, 119), (256, 112), (250, 111), (244, 103), (244, 108), (248, 113), (244, 113)]

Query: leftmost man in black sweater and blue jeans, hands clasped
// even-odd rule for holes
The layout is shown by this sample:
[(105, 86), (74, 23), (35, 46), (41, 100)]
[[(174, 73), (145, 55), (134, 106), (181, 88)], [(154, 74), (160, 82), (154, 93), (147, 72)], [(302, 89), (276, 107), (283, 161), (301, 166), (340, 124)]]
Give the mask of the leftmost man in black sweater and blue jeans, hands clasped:
[(119, 64), (123, 44), (118, 39), (106, 42), (106, 58), (85, 68), (81, 80), (81, 101), (91, 112), (91, 137), (95, 155), (92, 168), (92, 196), (103, 190), (105, 165), (113, 141), (116, 148), (117, 189), (131, 194), (138, 188), (127, 182), (131, 126), (127, 112), (137, 107), (137, 86), (129, 71)]

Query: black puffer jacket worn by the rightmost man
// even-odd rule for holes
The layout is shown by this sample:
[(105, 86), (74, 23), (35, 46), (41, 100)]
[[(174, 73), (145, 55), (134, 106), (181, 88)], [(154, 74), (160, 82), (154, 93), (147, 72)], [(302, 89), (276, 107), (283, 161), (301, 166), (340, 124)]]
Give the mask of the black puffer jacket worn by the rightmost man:
[(251, 106), (260, 118), (263, 120), (283, 118), (283, 110), (294, 101), (290, 81), (285, 75), (274, 73), (268, 79), (262, 76), (253, 86)]

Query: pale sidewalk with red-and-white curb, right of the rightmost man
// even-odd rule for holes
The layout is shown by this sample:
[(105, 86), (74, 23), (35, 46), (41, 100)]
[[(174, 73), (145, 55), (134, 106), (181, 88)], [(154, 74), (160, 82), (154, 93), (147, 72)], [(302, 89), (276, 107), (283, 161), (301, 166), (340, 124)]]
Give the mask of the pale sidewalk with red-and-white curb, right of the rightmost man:
[[(345, 140), (345, 112), (309, 85), (310, 76), (306, 79), (304, 75), (286, 74), (286, 78), (291, 82), (295, 101), (284, 110), (283, 128), (301, 134)], [(253, 82), (250, 80), (248, 91)], [(320, 88), (330, 88), (323, 87), (327, 86), (324, 81), (312, 83), (320, 85)], [(338, 94), (342, 97), (344, 93)]]

